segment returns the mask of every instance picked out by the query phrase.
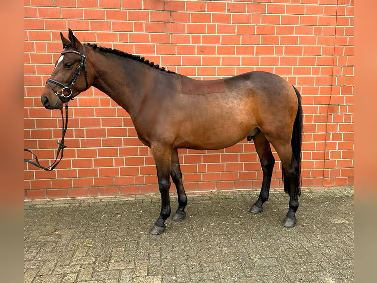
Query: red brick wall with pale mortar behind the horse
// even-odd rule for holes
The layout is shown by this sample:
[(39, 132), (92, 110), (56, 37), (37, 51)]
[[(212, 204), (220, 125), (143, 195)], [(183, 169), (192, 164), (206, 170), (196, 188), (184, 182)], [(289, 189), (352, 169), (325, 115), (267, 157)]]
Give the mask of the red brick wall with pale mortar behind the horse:
[[(353, 0), (24, 0), (24, 145), (43, 164), (56, 153), (61, 121), (40, 94), (68, 27), (82, 42), (197, 79), (283, 76), (302, 94), (303, 188), (353, 184)], [(25, 199), (158, 191), (151, 153), (122, 108), (91, 88), (69, 111), (63, 161), (52, 172), (24, 163)], [(260, 188), (259, 160), (246, 139), (179, 153), (187, 191)], [(282, 187), (279, 168), (273, 188)]]

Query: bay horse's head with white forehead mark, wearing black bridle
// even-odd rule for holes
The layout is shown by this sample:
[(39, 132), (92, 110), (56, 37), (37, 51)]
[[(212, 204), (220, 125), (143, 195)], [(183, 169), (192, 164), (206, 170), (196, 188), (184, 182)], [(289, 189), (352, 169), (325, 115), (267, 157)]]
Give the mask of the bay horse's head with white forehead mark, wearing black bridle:
[(41, 95), (42, 104), (47, 109), (63, 108), (63, 103), (90, 87), (85, 46), (73, 35), (71, 29), (69, 29), (69, 40), (62, 33), (60, 37), (64, 51), (55, 62), (55, 69)]

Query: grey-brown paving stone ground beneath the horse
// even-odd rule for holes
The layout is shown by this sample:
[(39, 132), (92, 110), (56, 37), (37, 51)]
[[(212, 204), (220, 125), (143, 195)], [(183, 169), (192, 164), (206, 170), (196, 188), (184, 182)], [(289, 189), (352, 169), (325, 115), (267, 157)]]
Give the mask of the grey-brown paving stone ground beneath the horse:
[(159, 236), (158, 195), (27, 202), (24, 283), (353, 282), (353, 188), (303, 190), (294, 228), (282, 190), (252, 215), (258, 194), (188, 194)]

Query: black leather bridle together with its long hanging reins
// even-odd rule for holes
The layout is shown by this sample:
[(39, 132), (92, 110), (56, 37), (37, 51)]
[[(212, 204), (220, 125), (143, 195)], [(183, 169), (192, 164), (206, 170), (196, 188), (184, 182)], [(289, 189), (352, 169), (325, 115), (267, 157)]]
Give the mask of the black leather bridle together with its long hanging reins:
[[(67, 127), (68, 127), (68, 101), (73, 100), (73, 98), (71, 97), (72, 96), (72, 87), (75, 85), (76, 80), (79, 77), (79, 75), (81, 74), (82, 69), (84, 69), (84, 72), (85, 72), (85, 84), (86, 84), (85, 89), (88, 88), (87, 67), (86, 67), (86, 64), (85, 64), (85, 45), (83, 45), (83, 53), (80, 53), (80, 52), (74, 51), (74, 50), (66, 50), (66, 51), (61, 52), (62, 55), (67, 54), (67, 53), (75, 53), (75, 54), (81, 56), (81, 61), (80, 61), (79, 65), (77, 65), (77, 68), (76, 68), (76, 70), (75, 70), (75, 72), (72, 76), (70, 84), (67, 86), (67, 85), (65, 85), (65, 84), (63, 84), (59, 81), (54, 80), (54, 79), (51, 79), (51, 78), (47, 79), (47, 84), (51, 87), (51, 89), (59, 97), (59, 99), (65, 104), (65, 125), (64, 125), (63, 108), (60, 109), (60, 113), (62, 115), (62, 139), (61, 139), (60, 142), (57, 142), (59, 147), (58, 147), (58, 151), (56, 153), (55, 160), (50, 166), (43, 167), (42, 165), (40, 165), (38, 157), (36, 156), (36, 154), (33, 153), (31, 150), (24, 148), (24, 151), (30, 152), (33, 156), (35, 156), (35, 161), (36, 161), (36, 162), (33, 162), (30, 159), (24, 158), (24, 162), (28, 162), (32, 165), (35, 165), (35, 166), (37, 166), (41, 169), (46, 170), (46, 171), (53, 170), (63, 158), (64, 148), (66, 148), (66, 145), (64, 145), (64, 137), (65, 137), (65, 133), (66, 133)], [(62, 87), (61, 93), (59, 93), (52, 84), (56, 84), (56, 85)], [(63, 93), (64, 91), (66, 91), (68, 94), (64, 95), (64, 93)], [(58, 160), (59, 153), (60, 153), (60, 158)]]

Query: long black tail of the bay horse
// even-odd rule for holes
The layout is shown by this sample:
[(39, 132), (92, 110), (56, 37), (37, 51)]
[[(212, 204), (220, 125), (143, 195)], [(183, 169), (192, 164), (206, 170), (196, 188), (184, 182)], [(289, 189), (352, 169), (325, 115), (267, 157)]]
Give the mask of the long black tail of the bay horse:
[[(297, 162), (297, 179), (296, 179), (296, 185), (297, 185), (297, 190), (296, 190), (296, 195), (300, 196), (301, 195), (301, 142), (302, 142), (302, 116), (303, 116), (303, 111), (302, 111), (302, 106), (301, 106), (301, 95), (299, 91), (293, 86), (294, 91), (296, 92), (297, 99), (298, 99), (298, 109), (297, 109), (297, 114), (296, 114), (296, 119), (294, 120), (293, 124), (293, 133), (292, 133), (292, 151), (293, 151), (293, 160), (292, 164), (296, 164)], [(288, 181), (288, 178), (285, 176), (285, 172), (282, 166), (283, 170), (283, 183), (284, 183), (284, 190), (287, 194), (289, 194), (289, 188), (290, 184)]]

